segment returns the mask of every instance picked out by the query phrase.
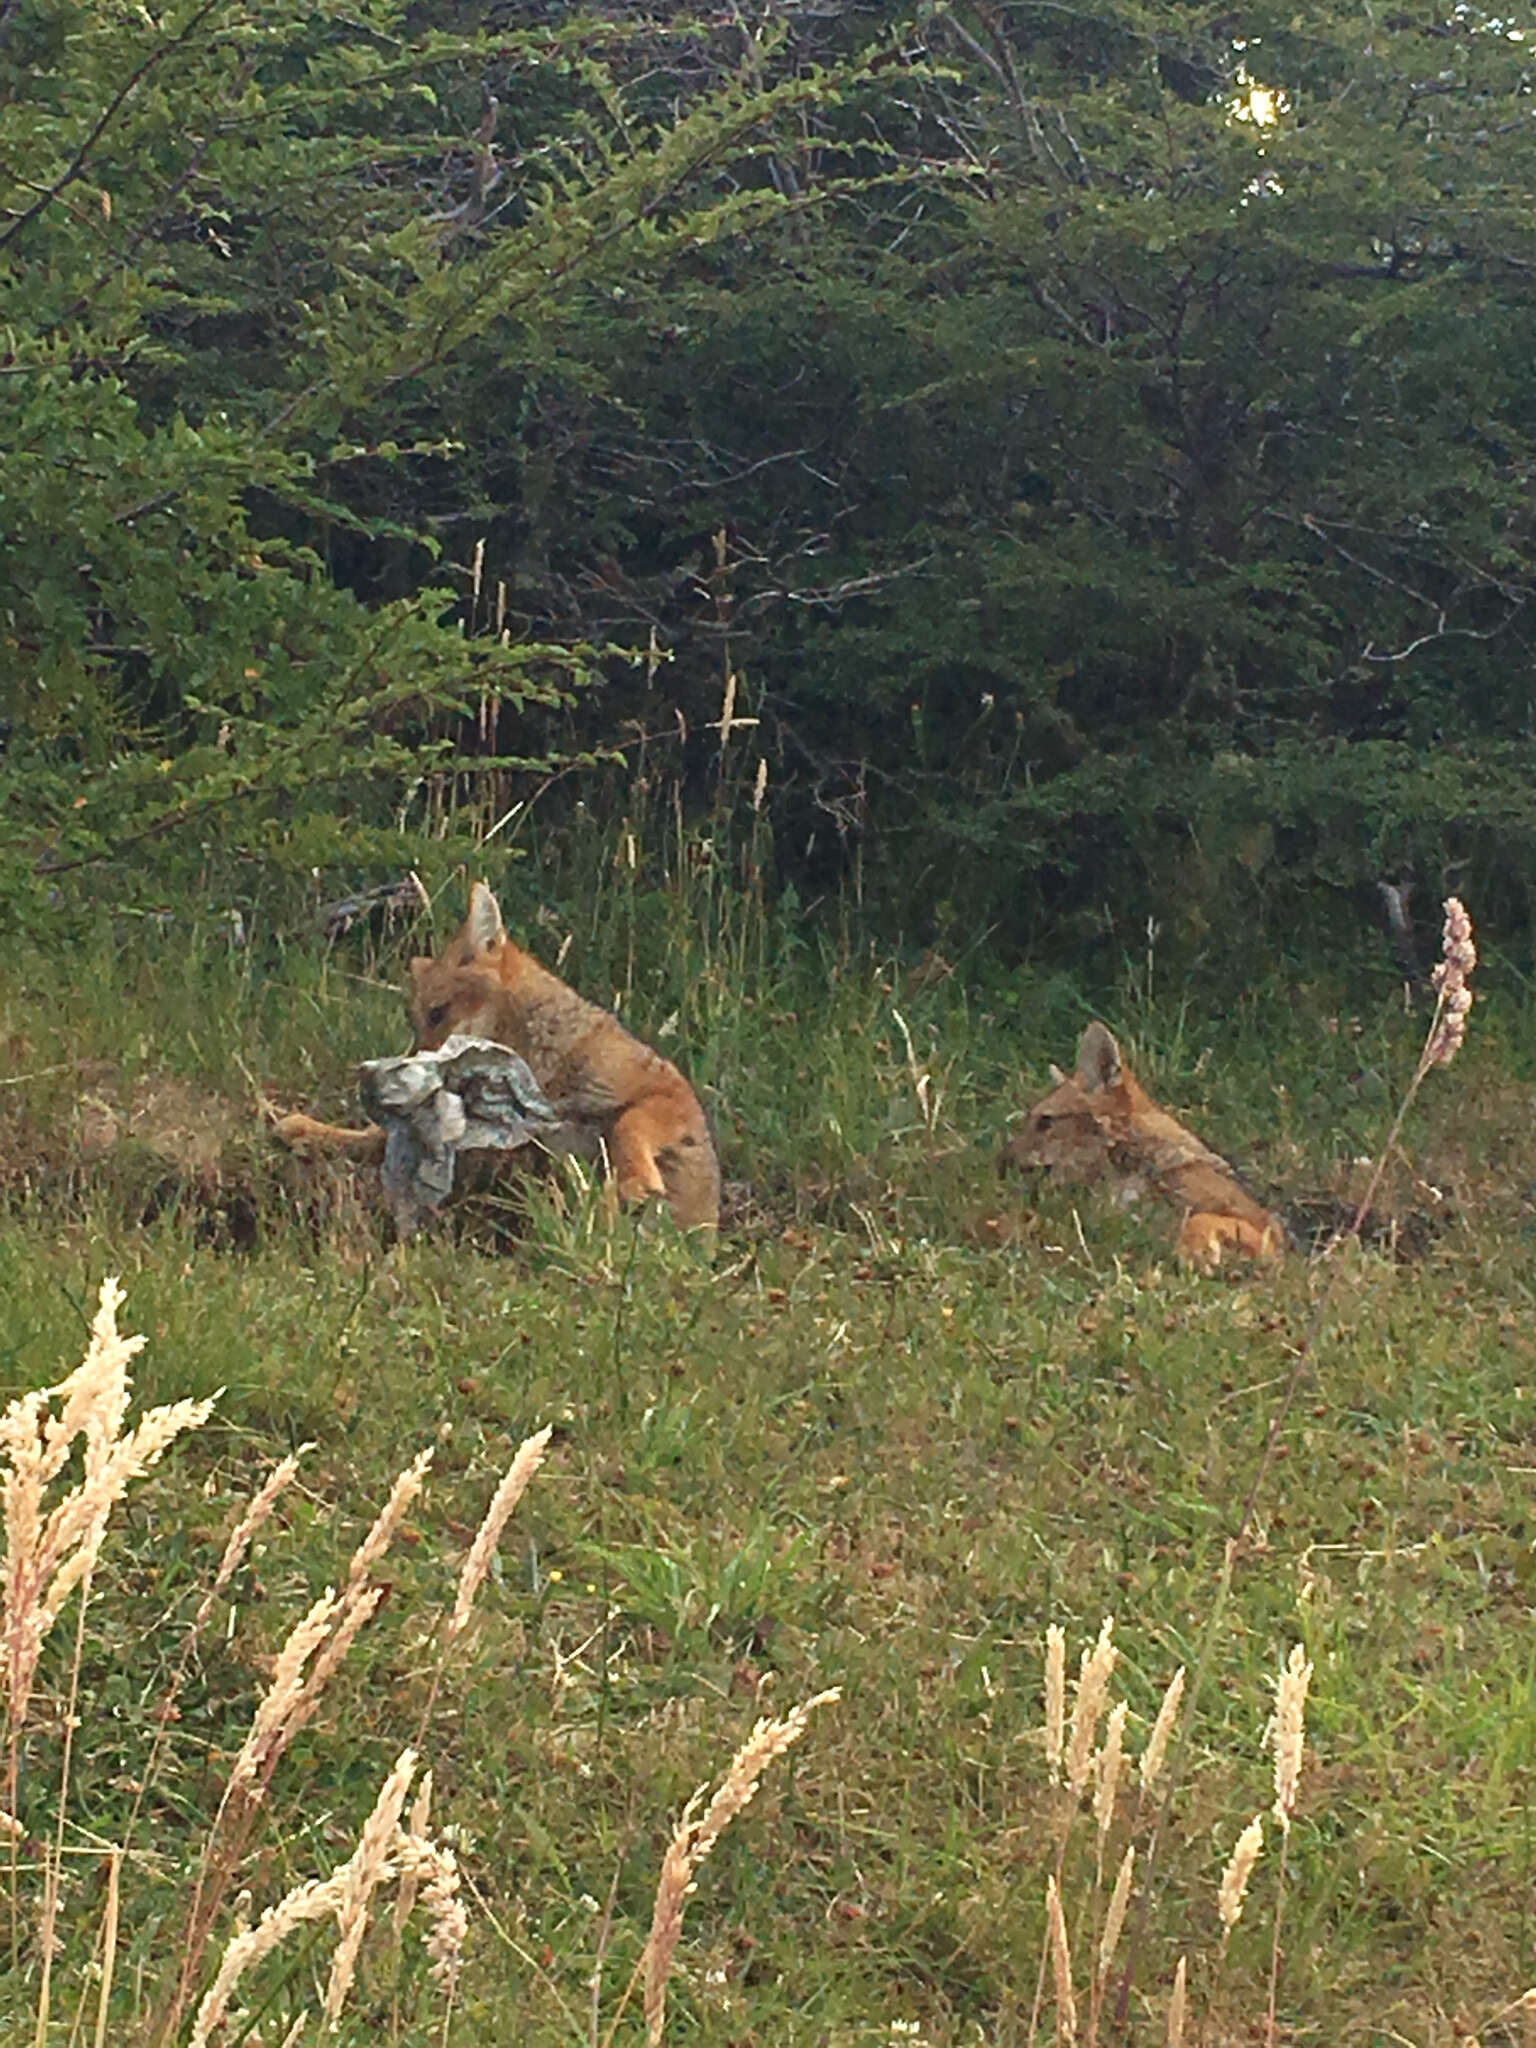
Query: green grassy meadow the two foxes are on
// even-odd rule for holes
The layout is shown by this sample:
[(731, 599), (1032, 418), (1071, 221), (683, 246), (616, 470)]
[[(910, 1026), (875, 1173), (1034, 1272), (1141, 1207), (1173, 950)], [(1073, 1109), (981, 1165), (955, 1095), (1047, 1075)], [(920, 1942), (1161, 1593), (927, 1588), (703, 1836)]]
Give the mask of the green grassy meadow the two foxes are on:
[[(551, 963), (565, 948), (567, 979), (621, 997), (700, 1087), (731, 1184), (713, 1264), (575, 1184), (397, 1245), (367, 1178), (268, 1145), (262, 1098), (350, 1118), (354, 1061), (401, 1049), (395, 983), (422, 932), (326, 950), (287, 903), (236, 944), (211, 891), (164, 920), (125, 887), (68, 907), (68, 948), (0, 975), (0, 1393), (80, 1360), (104, 1274), (123, 1331), (147, 1337), (133, 1413), (217, 1391), (115, 1511), (84, 1632), (76, 1599), (12, 1745), (14, 2038), (39, 2013), (49, 1862), (37, 2038), (166, 2032), (188, 1894), (274, 1659), (430, 1446), (377, 1612), (223, 1872), (203, 1982), (240, 1925), (352, 1855), (418, 1745), (469, 1915), (446, 2038), (645, 2040), (625, 1987), (684, 1802), (758, 1716), (840, 1688), (698, 1872), (668, 2040), (1069, 2040), (1057, 1876), (1077, 2040), (1167, 2040), (1188, 1958), (1190, 2042), (1264, 2040), (1272, 1966), (1278, 2040), (1528, 2042), (1511, 2001), (1536, 1980), (1536, 1014), (1516, 979), (1481, 977), (1368, 1243), (1204, 1280), (1174, 1266), (1165, 1210), (999, 1182), (1010, 1120), (1104, 1014), (1169, 1108), (1321, 1229), (1423, 1034), (1384, 967), (1348, 993), (1276, 973), (1202, 1004), (1130, 958), (1090, 997), (981, 950), (897, 956), (852, 920), (768, 913), (705, 854), (672, 874), (618, 860), (578, 891), (551, 864), (520, 899), (522, 870), (492, 868), (514, 934)], [(438, 934), (461, 903), (444, 877)], [(547, 1460), (444, 1649), (496, 1483), (545, 1423)], [(188, 1655), (229, 1530), (299, 1446)], [(1044, 1638), (1065, 1628), (1075, 1675), (1106, 1616), (1133, 1761), (1180, 1665), (1188, 1739), (1149, 1792), (1135, 1769), (1110, 1784), (1098, 1817), (1090, 1778), (1065, 1833)], [(1276, 1796), (1266, 1726), (1296, 1642), (1313, 1679), (1276, 1960), (1272, 1819), (1225, 1942), (1217, 1888)], [(319, 2040), (334, 1939), (315, 1921), (252, 1966), (219, 2040)], [(336, 2038), (440, 2040), (442, 2011), (385, 1903)]]

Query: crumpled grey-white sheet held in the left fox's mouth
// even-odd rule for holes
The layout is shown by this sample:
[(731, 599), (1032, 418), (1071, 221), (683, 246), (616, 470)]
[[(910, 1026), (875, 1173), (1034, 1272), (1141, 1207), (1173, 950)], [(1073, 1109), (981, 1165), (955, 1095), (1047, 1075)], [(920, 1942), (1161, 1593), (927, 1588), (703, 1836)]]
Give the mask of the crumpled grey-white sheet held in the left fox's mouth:
[(528, 1063), (489, 1038), (455, 1032), (436, 1053), (362, 1061), (358, 1092), (385, 1133), (383, 1186), (401, 1235), (446, 1202), (463, 1153), (592, 1151), (590, 1135), (545, 1100)]

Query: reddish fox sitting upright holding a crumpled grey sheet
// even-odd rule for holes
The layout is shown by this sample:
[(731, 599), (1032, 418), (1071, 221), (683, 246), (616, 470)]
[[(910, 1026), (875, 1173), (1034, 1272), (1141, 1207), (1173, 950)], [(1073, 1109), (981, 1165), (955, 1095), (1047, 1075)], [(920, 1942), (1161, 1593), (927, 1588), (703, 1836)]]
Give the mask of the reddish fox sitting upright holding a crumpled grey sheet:
[[(471, 887), (463, 928), (442, 952), (410, 963), (408, 999), (418, 1053), (463, 1032), (526, 1059), (555, 1114), (602, 1141), (621, 1202), (662, 1198), (684, 1231), (719, 1229), (721, 1167), (690, 1083), (514, 944), (485, 883)], [(279, 1118), (274, 1135), (299, 1153), (385, 1153), (377, 1124), (346, 1130), (295, 1114)]]

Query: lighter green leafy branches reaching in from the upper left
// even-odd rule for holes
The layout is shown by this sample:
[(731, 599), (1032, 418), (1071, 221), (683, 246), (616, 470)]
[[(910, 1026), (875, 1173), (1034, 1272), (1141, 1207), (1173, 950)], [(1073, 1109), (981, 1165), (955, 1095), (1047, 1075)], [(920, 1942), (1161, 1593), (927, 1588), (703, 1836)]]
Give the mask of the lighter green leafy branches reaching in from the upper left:
[(455, 365), (537, 387), (594, 293), (780, 205), (719, 164), (836, 86), (725, 80), (627, 123), (623, 29), (461, 35), (403, 4), (6, 31), (0, 901), (225, 813), (274, 854), (455, 770), (543, 772), (530, 709), (621, 649), (530, 631), (444, 559), (483, 401)]

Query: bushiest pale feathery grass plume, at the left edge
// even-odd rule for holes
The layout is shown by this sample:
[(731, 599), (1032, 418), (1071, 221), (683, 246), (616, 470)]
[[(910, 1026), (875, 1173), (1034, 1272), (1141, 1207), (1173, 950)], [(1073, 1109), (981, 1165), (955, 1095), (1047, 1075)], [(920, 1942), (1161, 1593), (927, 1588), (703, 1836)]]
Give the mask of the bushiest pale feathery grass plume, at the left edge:
[[(82, 1364), (57, 1386), (20, 1395), (0, 1415), (6, 1540), (0, 1659), (12, 1737), (27, 1720), (43, 1642), (70, 1593), (90, 1579), (113, 1507), (174, 1438), (199, 1430), (213, 1413), (213, 1399), (174, 1401), (150, 1409), (123, 1434), (127, 1364), (143, 1350), (143, 1337), (119, 1335), (121, 1305), (123, 1288), (102, 1280)], [(57, 1415), (53, 1401), (61, 1403)], [(45, 1511), (43, 1493), (70, 1460), (76, 1438), (84, 1438), (80, 1481)]]

